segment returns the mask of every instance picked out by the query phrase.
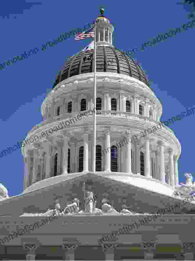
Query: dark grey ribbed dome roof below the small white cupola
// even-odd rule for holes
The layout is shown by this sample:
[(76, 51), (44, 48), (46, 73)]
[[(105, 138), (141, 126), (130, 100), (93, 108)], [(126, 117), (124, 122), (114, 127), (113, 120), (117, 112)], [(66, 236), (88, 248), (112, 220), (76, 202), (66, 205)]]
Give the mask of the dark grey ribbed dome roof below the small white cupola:
[[(64, 70), (57, 76), (53, 88), (61, 81), (82, 73), (93, 72), (93, 57), (88, 60), (86, 56), (93, 55), (93, 50), (79, 52), (70, 58), (64, 67)], [(129, 75), (135, 79), (144, 82), (149, 87), (146, 75), (139, 64), (133, 61), (129, 56), (120, 50), (111, 46), (97, 46), (96, 49), (96, 71), (120, 73)], [(52, 89), (53, 89), (52, 88)]]

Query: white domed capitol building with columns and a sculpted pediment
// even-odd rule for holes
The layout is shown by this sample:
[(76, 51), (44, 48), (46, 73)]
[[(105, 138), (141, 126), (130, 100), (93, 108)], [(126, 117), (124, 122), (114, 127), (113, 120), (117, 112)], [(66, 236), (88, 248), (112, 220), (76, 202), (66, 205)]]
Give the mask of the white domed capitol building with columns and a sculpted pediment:
[(190, 174), (178, 184), (180, 142), (160, 122), (162, 104), (143, 69), (113, 47), (103, 10), (95, 22), (96, 106), (93, 50), (82, 51), (66, 62), (42, 103), (42, 122), (28, 132), (24, 192), (8, 198), (0, 187), (0, 256), (194, 258), (194, 202), (178, 207), (194, 189)]

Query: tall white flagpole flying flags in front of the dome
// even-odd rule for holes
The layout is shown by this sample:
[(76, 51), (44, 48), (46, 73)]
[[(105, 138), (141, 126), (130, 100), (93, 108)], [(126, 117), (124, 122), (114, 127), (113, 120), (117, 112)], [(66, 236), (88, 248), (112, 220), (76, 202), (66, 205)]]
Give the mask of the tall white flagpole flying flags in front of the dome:
[(93, 152), (92, 152), (92, 167), (95, 172), (95, 160), (96, 160), (96, 26), (94, 27), (94, 114), (93, 114)]

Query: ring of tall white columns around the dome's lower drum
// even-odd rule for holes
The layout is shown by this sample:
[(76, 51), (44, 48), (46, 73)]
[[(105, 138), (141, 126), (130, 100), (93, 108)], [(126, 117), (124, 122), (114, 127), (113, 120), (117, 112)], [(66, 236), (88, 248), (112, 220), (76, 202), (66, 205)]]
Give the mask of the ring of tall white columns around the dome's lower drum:
[[(118, 154), (120, 155), (118, 159), (118, 170), (119, 172), (134, 173), (138, 175), (144, 175), (145, 177), (153, 177), (160, 181), (165, 182), (165, 144), (162, 141), (156, 143), (156, 150), (151, 151), (149, 138), (145, 139), (145, 144), (140, 141), (134, 142), (133, 157), (132, 153), (132, 143), (130, 142), (132, 133), (126, 131), (123, 141), (124, 146), (118, 147)], [(70, 146), (70, 173), (78, 172), (77, 166), (77, 149), (76, 141), (68, 137), (66, 131), (63, 131), (63, 136), (57, 136), (57, 174), (67, 174), (68, 173), (68, 149)], [(129, 141), (129, 142), (128, 142)], [(110, 128), (106, 128), (104, 131), (104, 150), (102, 154), (104, 158), (102, 159), (102, 171), (111, 172), (111, 131)], [(53, 140), (47, 139), (44, 144), (44, 150), (46, 154), (40, 153), (39, 150), (43, 149), (41, 144), (34, 144), (34, 152), (28, 151), (27, 157), (25, 159), (26, 168), (28, 169), (28, 175), (25, 175), (25, 188), (29, 185), (35, 183), (44, 178), (49, 178), (53, 176), (53, 155), (55, 155), (55, 145)], [(93, 162), (89, 163), (89, 147), (91, 146), (90, 137), (88, 133), (88, 128), (84, 129), (83, 134), (83, 172), (92, 171), (89, 166), (92, 166)], [(120, 143), (120, 142), (119, 142)], [(159, 148), (158, 148), (159, 147)], [(144, 172), (141, 172), (140, 166), (140, 151), (144, 148)], [(105, 153), (106, 152), (106, 153)], [(169, 163), (168, 168), (168, 184), (174, 188), (178, 185), (178, 166), (177, 157), (174, 155), (172, 148), (168, 148)], [(46, 157), (43, 157), (46, 155)], [(103, 156), (102, 155), (102, 156)], [(153, 156), (152, 156), (153, 155)], [(133, 163), (131, 163), (133, 158)], [(152, 159), (152, 160), (151, 160)], [(120, 160), (120, 164), (119, 164)], [(133, 170), (131, 169), (133, 167)], [(27, 177), (28, 176), (28, 177)]]

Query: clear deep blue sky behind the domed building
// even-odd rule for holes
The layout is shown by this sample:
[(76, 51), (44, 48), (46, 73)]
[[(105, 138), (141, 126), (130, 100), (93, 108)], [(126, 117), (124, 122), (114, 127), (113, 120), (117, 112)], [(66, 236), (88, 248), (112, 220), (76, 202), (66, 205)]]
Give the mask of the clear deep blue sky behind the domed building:
[[(124, 51), (131, 50), (159, 34), (181, 28), (192, 19), (187, 17), (189, 11), (177, 4), (180, 1), (124, 1), (124, 4), (102, 1), (105, 16), (115, 27), (113, 45)], [(92, 23), (102, 7), (101, 1), (87, 4), (62, 0), (4, 0), (1, 5), (0, 64), (35, 47), (41, 49), (42, 44), (58, 38), (61, 33)], [(195, 107), (194, 35), (195, 27), (189, 28), (136, 53), (136, 59), (153, 82), (151, 87), (163, 104), (161, 121)], [(0, 70), (0, 151), (22, 141), (27, 132), (41, 122), (41, 103), (52, 88), (57, 72), (68, 57), (90, 42), (90, 39), (75, 41), (71, 37)], [(182, 147), (178, 161), (179, 181), (185, 181), (185, 172), (194, 171), (194, 119), (195, 114), (170, 126)], [(0, 183), (8, 188), (9, 195), (22, 193), (21, 151), (0, 158), (0, 164)]]

